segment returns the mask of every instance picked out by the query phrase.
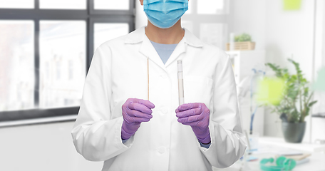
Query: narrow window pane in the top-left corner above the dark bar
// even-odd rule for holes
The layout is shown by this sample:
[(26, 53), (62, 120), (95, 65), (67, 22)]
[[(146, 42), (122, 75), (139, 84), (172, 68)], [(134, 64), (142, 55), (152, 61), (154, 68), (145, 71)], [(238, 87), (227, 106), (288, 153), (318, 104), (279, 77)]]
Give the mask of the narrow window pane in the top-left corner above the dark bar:
[(0, 0), (3, 9), (33, 9), (34, 0)]

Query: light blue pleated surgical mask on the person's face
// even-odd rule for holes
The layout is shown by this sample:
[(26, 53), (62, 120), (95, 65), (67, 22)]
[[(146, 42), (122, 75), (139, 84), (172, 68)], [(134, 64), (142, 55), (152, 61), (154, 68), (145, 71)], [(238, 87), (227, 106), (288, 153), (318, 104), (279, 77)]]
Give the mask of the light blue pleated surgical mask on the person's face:
[(143, 0), (148, 20), (159, 28), (170, 28), (185, 14), (188, 0)]

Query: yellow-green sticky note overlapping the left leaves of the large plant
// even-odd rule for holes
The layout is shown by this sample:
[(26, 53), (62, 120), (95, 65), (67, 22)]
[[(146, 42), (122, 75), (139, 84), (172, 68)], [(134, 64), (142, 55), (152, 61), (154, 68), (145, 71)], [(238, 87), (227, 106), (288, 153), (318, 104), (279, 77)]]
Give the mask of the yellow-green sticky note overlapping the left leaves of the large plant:
[(269, 105), (279, 105), (285, 88), (284, 80), (280, 78), (263, 78), (257, 86), (257, 102)]

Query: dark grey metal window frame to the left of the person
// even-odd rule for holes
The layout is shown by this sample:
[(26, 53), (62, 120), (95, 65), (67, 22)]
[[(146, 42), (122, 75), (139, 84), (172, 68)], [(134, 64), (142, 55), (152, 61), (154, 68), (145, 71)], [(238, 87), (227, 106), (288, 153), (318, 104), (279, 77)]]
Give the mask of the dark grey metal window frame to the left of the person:
[[(34, 21), (34, 65), (35, 65), (35, 109), (15, 110), (0, 112), (0, 128), (15, 125), (30, 125), (38, 123), (52, 123), (72, 121), (76, 118), (79, 106), (64, 108), (38, 108), (39, 104), (39, 23), (41, 20), (82, 20), (86, 22), (86, 73), (91, 65), (93, 57), (94, 24), (95, 23), (128, 23), (129, 32), (135, 29), (135, 4), (130, 1), (130, 10), (94, 10), (94, 0), (87, 0), (87, 9), (39, 9), (39, 0), (34, 0), (34, 9), (0, 9), (0, 20), (32, 20)], [(58, 117), (68, 116), (63, 119)], [(40, 118), (46, 118), (46, 121)], [(53, 119), (51, 119), (53, 118)], [(31, 121), (35, 120), (35, 121)]]

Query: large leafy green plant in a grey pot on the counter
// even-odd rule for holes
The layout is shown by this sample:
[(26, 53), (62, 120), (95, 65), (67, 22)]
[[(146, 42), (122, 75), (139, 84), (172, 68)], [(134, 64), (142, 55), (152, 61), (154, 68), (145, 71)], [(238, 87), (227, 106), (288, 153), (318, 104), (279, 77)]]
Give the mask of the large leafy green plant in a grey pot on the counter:
[(288, 59), (296, 69), (295, 74), (289, 74), (287, 68), (280, 68), (272, 63), (266, 66), (272, 68), (277, 78), (284, 81), (282, 100), (277, 105), (272, 105), (273, 113), (278, 113), (282, 119), (282, 131), (287, 142), (299, 143), (304, 138), (306, 128), (305, 118), (309, 115), (312, 105), (317, 101), (311, 101), (313, 93), (309, 92), (308, 81), (304, 78), (299, 63)]

